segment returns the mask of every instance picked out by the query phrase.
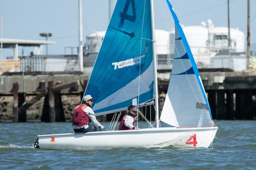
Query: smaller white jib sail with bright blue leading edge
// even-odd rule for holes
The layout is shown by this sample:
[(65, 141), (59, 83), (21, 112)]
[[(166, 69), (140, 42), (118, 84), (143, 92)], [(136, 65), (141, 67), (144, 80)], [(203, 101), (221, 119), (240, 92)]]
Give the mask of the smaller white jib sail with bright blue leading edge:
[(160, 120), (175, 127), (214, 126), (210, 106), (190, 47), (169, 0), (175, 23), (175, 51)]

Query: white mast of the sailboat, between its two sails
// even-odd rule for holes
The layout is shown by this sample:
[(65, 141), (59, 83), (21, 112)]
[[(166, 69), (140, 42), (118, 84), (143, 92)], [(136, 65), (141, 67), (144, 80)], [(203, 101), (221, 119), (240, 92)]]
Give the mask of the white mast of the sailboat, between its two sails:
[(154, 91), (155, 91), (155, 107), (156, 107), (156, 127), (159, 128), (159, 110), (158, 110), (158, 85), (157, 85), (157, 69), (156, 69), (156, 51), (155, 51), (155, 21), (154, 21), (154, 7), (153, 0), (150, 0), (151, 10), (151, 26), (153, 39), (153, 65), (154, 65)]

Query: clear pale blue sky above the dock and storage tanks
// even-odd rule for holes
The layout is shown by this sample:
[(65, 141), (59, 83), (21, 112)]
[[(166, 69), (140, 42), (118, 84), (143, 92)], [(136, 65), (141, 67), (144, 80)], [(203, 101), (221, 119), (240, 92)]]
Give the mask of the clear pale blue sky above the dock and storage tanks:
[[(46, 40), (39, 32), (52, 32), (48, 54), (64, 54), (65, 47), (78, 46), (78, 0), (0, 0), (3, 38)], [(116, 0), (113, 0), (116, 2)], [(228, 26), (228, 0), (171, 0), (182, 25), (194, 26), (211, 19), (215, 27)], [(247, 37), (247, 0), (229, 0), (230, 27), (239, 28)], [(256, 46), (256, 0), (250, 0), (251, 45)], [(155, 28), (170, 30), (172, 17), (165, 0), (154, 1)], [(1, 21), (1, 20), (0, 20)], [(109, 22), (109, 0), (82, 0), (83, 43), (93, 30), (105, 31)], [(23, 55), (33, 51), (23, 48)], [(252, 48), (251, 48), (252, 49)], [(255, 49), (256, 50), (256, 49)], [(44, 48), (43, 53), (46, 53)], [(66, 51), (70, 53), (70, 51)], [(19, 47), (19, 56), (22, 47)], [(12, 56), (12, 49), (3, 50), (3, 59)]]

